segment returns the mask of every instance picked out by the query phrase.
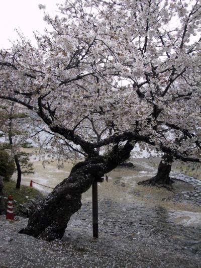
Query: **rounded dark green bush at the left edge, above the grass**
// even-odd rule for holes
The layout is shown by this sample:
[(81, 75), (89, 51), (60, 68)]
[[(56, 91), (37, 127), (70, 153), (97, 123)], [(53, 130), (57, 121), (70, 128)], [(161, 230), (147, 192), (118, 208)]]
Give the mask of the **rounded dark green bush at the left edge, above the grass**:
[(0, 150), (0, 176), (9, 181), (15, 171), (15, 162), (10, 159), (8, 152)]

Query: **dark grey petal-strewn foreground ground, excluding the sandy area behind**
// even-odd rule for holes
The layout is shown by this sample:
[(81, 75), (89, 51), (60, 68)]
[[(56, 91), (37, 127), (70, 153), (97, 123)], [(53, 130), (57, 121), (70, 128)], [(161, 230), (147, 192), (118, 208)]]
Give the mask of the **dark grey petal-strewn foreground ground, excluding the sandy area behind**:
[[(200, 267), (201, 230), (175, 225), (166, 211), (99, 202), (99, 239), (92, 238), (90, 203), (72, 217), (61, 241), (19, 234), (27, 219), (1, 217), (1, 267)], [(106, 207), (110, 209), (105, 212)]]

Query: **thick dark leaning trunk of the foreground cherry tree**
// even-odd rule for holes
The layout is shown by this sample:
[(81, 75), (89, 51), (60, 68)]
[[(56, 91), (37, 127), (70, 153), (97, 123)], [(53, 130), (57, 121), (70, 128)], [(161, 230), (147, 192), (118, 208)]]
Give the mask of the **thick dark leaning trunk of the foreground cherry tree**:
[(81, 207), (81, 194), (90, 188), (95, 178), (102, 177), (128, 159), (133, 147), (129, 142), (121, 149), (116, 145), (107, 156), (94, 156), (77, 163), (69, 177), (36, 208), (27, 227), (20, 233), (47, 241), (62, 238), (70, 217)]

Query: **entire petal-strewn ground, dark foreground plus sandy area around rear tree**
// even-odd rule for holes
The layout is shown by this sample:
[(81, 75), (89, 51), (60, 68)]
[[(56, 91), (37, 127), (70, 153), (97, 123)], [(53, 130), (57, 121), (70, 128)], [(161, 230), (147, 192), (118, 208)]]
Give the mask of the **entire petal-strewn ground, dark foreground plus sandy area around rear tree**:
[(92, 238), (91, 190), (61, 241), (19, 234), (27, 219), (1, 216), (0, 267), (200, 267), (200, 181), (172, 173), (173, 192), (139, 186), (156, 169), (144, 159), (134, 165), (116, 168), (98, 185), (98, 240)]

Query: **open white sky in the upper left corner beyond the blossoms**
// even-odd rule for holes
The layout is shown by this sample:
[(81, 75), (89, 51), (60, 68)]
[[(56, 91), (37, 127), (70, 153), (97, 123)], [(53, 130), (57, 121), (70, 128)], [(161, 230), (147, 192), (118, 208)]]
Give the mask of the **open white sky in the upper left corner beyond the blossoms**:
[(27, 39), (34, 42), (33, 31), (42, 32), (46, 27), (43, 10), (38, 5), (46, 5), (46, 12), (55, 14), (57, 3), (62, 0), (0, 0), (0, 49), (10, 48), (11, 41), (18, 38), (15, 28), (21, 30)]

